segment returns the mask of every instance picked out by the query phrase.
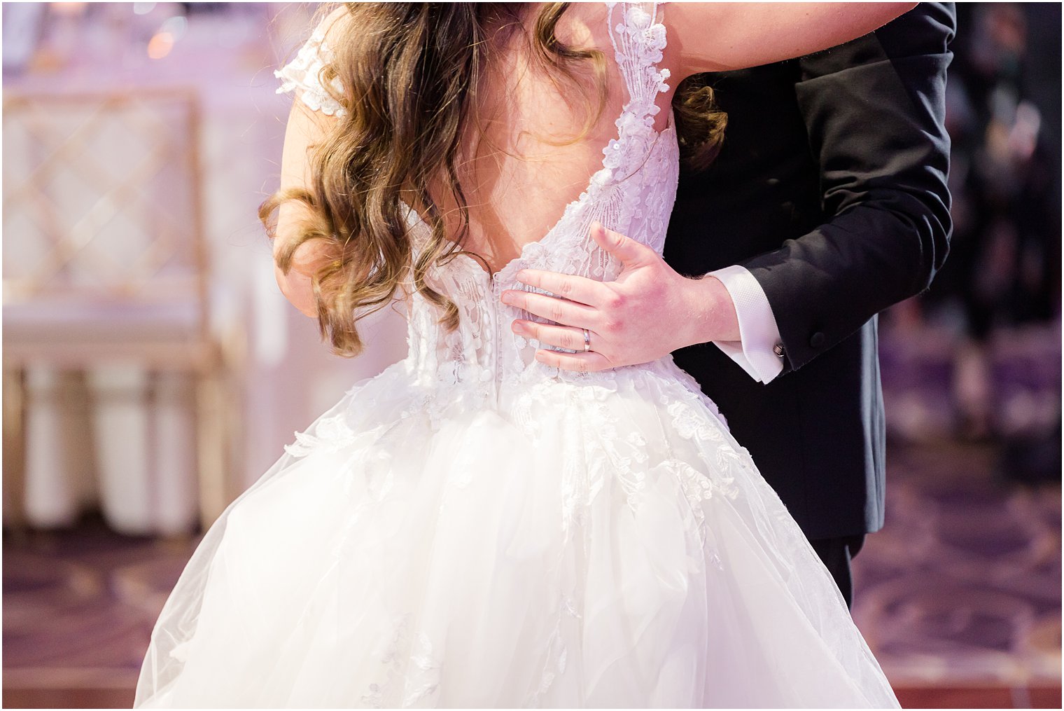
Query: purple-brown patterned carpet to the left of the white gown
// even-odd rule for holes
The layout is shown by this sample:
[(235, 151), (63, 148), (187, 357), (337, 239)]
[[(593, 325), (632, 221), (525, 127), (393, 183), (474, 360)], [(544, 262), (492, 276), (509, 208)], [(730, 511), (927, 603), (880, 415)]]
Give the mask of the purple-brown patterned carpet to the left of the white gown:
[(131, 706), (152, 624), (193, 544), (122, 536), (100, 519), (5, 532), (3, 706)]

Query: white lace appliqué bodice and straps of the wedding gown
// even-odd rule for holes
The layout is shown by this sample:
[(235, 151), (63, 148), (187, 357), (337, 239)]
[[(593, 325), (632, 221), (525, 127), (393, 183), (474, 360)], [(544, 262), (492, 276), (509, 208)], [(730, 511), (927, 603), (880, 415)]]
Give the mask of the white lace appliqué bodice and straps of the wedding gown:
[[(656, 3), (606, 3), (613, 59), (624, 78), (627, 101), (617, 117), (617, 137), (602, 149), (602, 167), (586, 189), (566, 205), (561, 218), (538, 242), (523, 247), (520, 255), (489, 275), (472, 258), (458, 255), (433, 267), (428, 279), (454, 300), (461, 324), (448, 332), (438, 311), (418, 295), (409, 297), (411, 375), (428, 391), (431, 410), (445, 416), (450, 403), (499, 402), (500, 388), (545, 379), (608, 380), (606, 374), (577, 374), (549, 368), (534, 359), (539, 344), (514, 334), (510, 324), (535, 318), (502, 304), (499, 295), (508, 288), (531, 287), (514, 275), (522, 268), (575, 274), (612, 280), (619, 272), (617, 261), (589, 237), (599, 221), (661, 253), (668, 216), (676, 199), (679, 149), (671, 115), (666, 127), (654, 129), (662, 106), (658, 101), (668, 90), (669, 71), (660, 66), (666, 47), (665, 27)], [(331, 53), (319, 28), (296, 60), (279, 70), (280, 90), (299, 87), (301, 100), (312, 109), (343, 115), (320, 84), (320, 71)], [(428, 236), (428, 227), (410, 210), (409, 225), (415, 249)], [(435, 397), (433, 397), (433, 395)]]

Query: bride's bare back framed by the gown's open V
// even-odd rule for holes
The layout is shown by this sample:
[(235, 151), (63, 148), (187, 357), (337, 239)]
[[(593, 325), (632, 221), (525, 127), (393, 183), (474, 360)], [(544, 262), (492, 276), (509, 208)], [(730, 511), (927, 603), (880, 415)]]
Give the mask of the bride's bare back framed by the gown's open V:
[[(571, 63), (573, 78), (544, 66), (528, 36), (535, 12), (526, 11), (523, 27), (489, 53), (462, 140), (459, 179), (469, 209), (463, 244), (492, 272), (547, 234), (565, 206), (587, 188), (631, 99), (615, 57), (606, 6), (575, 3), (555, 29), (562, 44), (601, 52), (604, 76), (596, 75), (591, 60)], [(604, 84), (601, 106), (599, 82)], [(656, 105), (667, 108), (671, 96), (669, 87)], [(664, 129), (667, 117), (661, 111), (654, 128)], [(461, 222), (452, 217), (447, 225), (453, 238)]]

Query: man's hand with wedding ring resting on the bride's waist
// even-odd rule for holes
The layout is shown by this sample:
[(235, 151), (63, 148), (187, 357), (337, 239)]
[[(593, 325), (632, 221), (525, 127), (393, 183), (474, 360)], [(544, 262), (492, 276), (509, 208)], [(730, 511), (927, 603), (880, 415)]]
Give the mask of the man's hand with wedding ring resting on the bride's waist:
[[(739, 340), (735, 307), (719, 280), (683, 277), (649, 247), (601, 225), (593, 225), (591, 233), (599, 247), (620, 260), (615, 281), (522, 269), (518, 281), (556, 296), (519, 290), (501, 295), (503, 303), (558, 324), (515, 319), (514, 333), (541, 346), (580, 351), (541, 348), (537, 361), (586, 373), (648, 363), (696, 343)], [(584, 329), (591, 341), (586, 352)]]

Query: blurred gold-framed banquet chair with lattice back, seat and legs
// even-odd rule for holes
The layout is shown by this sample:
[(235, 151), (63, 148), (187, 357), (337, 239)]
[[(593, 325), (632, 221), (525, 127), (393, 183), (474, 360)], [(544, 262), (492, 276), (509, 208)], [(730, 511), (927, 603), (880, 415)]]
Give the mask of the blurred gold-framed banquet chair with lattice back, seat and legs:
[(199, 123), (190, 90), (4, 93), (4, 514), (16, 526), (27, 374), (41, 367), (186, 374), (200, 523), (229, 501), (234, 398), (211, 329)]

